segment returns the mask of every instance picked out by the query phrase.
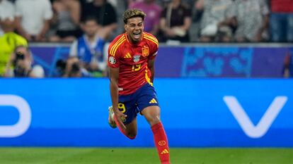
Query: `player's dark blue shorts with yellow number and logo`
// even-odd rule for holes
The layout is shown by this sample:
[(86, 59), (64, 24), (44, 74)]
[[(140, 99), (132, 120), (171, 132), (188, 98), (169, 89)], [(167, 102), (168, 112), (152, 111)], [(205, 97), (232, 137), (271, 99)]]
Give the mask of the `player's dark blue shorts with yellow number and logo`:
[(159, 106), (156, 91), (149, 83), (144, 84), (133, 94), (119, 96), (118, 108), (127, 115), (125, 125), (132, 122), (137, 117), (137, 113), (148, 106)]

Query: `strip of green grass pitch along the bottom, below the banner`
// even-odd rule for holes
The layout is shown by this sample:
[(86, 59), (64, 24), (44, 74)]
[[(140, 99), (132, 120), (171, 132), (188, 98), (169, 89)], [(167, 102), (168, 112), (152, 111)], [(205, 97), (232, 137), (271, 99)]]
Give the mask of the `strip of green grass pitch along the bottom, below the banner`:
[[(154, 148), (1, 147), (1, 164), (159, 164)], [(172, 164), (293, 164), (293, 149), (171, 148)]]

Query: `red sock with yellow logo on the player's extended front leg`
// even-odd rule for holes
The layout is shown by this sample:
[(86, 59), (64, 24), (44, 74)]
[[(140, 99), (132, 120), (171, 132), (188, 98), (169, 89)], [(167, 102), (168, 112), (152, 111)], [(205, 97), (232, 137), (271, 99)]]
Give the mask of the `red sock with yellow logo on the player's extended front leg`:
[(156, 125), (153, 125), (151, 127), (151, 131), (154, 134), (154, 142), (156, 145), (156, 149), (158, 150), (161, 163), (170, 164), (168, 139), (165, 130), (163, 130), (162, 123), (159, 122)]

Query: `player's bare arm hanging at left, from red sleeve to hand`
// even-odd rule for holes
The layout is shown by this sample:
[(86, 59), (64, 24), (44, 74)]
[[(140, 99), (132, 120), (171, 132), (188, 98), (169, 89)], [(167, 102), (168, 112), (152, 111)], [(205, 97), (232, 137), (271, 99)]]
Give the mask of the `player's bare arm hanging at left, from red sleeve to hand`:
[(121, 127), (126, 129), (125, 125), (123, 124), (122, 118), (126, 118), (127, 115), (123, 114), (118, 109), (118, 79), (119, 79), (119, 68), (110, 68), (110, 95), (112, 100), (113, 111), (115, 113), (115, 117), (117, 118)]

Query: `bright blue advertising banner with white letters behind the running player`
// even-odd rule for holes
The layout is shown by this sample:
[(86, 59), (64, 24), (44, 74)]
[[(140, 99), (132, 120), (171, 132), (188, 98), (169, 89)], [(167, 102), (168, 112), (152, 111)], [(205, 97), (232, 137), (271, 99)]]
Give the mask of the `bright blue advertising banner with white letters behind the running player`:
[[(108, 125), (108, 79), (1, 79), (0, 146), (154, 146)], [(156, 79), (170, 146), (293, 147), (293, 80)]]

